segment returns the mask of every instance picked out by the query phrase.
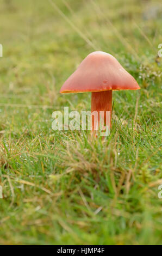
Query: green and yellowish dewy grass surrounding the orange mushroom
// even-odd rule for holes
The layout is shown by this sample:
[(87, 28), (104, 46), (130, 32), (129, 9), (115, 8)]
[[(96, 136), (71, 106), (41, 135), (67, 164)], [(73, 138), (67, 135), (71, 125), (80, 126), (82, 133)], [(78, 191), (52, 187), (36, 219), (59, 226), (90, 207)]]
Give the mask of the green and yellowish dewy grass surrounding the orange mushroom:
[[(0, 243), (160, 245), (160, 1), (0, 1)], [(54, 132), (53, 111), (90, 110), (59, 89), (95, 50), (141, 90), (114, 92), (105, 141)]]

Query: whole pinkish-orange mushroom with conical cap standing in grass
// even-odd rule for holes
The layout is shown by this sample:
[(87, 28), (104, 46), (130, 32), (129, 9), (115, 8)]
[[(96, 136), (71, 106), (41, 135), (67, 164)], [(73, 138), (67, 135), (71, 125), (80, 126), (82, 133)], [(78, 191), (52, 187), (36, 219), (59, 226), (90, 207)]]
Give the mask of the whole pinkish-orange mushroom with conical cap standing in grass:
[[(107, 111), (112, 115), (113, 90), (138, 90), (138, 83), (109, 53), (96, 51), (90, 53), (78, 66), (77, 70), (66, 80), (60, 93), (91, 92), (91, 113), (104, 113), (104, 124), (108, 125)], [(99, 122), (99, 119), (98, 119)], [(92, 119), (91, 130), (97, 130)], [(109, 127), (110, 129), (110, 127)]]

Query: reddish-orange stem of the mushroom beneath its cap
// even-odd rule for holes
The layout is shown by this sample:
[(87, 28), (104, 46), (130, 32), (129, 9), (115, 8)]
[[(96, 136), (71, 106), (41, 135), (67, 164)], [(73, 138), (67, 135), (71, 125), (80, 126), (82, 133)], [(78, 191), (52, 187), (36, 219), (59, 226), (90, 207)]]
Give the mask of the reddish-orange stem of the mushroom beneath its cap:
[[(104, 111), (104, 126), (110, 124), (111, 127), (111, 115), (112, 115), (112, 90), (106, 90), (103, 92), (92, 92), (91, 97), (91, 113), (98, 112), (98, 122), (95, 120), (95, 115), (92, 114), (92, 132), (99, 126), (99, 112)], [(106, 112), (110, 111), (110, 118), (106, 115)], [(97, 124), (98, 123), (98, 124)]]

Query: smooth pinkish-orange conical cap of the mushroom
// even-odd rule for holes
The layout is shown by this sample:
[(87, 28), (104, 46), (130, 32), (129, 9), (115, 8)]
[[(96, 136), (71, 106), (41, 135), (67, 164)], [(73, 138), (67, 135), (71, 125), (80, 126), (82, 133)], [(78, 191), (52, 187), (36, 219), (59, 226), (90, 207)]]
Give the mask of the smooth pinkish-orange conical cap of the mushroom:
[(90, 53), (68, 77), (60, 93), (102, 92), (105, 90), (138, 90), (131, 76), (109, 53)]

